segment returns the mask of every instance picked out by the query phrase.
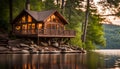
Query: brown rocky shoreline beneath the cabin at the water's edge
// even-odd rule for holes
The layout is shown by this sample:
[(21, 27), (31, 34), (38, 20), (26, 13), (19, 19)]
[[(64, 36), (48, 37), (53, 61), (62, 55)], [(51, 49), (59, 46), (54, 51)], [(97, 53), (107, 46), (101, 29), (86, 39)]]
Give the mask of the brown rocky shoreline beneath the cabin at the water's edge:
[(77, 46), (68, 44), (59, 45), (57, 42), (48, 45), (41, 42), (40, 45), (30, 39), (0, 38), (0, 54), (61, 54), (61, 53), (85, 53)]

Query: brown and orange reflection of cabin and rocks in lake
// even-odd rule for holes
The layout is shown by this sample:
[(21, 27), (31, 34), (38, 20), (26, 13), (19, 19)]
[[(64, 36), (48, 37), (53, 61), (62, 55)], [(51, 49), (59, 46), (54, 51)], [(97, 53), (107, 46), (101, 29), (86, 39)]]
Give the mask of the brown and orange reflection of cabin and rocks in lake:
[[(5, 59), (5, 58), (2, 58)], [(0, 61), (2, 60), (0, 59)], [(7, 69), (87, 69), (85, 57), (71, 54), (9, 55)], [(12, 60), (11, 60), (12, 59)], [(0, 62), (1, 63), (1, 62)], [(4, 69), (4, 68), (3, 68)]]

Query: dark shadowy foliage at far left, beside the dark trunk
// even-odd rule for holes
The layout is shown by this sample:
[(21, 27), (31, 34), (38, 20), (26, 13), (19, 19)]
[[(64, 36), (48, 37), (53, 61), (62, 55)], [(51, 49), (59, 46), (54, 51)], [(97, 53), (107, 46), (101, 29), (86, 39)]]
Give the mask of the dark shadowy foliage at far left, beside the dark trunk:
[(0, 0), (0, 30), (4, 32), (10, 31), (8, 3), (9, 0)]

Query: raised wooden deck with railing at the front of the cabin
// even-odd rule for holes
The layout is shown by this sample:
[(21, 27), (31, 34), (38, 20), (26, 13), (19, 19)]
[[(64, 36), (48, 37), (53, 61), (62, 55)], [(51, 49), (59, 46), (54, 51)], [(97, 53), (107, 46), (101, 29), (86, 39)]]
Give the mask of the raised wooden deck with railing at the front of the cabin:
[(15, 34), (28, 37), (75, 37), (76, 33), (73, 30), (44, 29), (15, 31)]

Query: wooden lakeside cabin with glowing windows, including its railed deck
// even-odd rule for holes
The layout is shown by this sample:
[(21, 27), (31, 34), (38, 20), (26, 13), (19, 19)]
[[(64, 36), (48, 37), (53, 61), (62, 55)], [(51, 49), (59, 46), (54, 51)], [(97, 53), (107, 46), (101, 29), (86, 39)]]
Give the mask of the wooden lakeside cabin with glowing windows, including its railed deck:
[(13, 21), (13, 32), (27, 37), (75, 37), (75, 31), (65, 28), (67, 24), (56, 10), (23, 10)]

